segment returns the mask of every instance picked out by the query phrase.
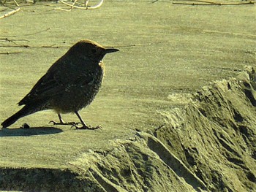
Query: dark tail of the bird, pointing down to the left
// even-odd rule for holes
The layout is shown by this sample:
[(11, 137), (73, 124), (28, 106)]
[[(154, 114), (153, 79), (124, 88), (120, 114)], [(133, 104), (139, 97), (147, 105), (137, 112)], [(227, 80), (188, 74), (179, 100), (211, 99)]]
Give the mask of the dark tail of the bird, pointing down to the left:
[(3, 128), (7, 128), (8, 126), (15, 123), (19, 118), (22, 118), (26, 115), (29, 115), (29, 114), (33, 113), (33, 112), (35, 112), (35, 111), (32, 111), (30, 107), (25, 105), (21, 110), (16, 112), (10, 118), (7, 118), (7, 120), (4, 120), (4, 122), (1, 123), (1, 126), (3, 126)]

